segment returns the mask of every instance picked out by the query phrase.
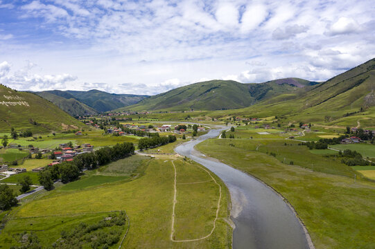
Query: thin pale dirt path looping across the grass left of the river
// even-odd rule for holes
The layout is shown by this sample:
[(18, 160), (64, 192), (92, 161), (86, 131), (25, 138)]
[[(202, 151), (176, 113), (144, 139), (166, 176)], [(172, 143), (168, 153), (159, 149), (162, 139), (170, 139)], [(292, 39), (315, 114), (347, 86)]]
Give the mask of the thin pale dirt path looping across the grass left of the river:
[[(213, 228), (212, 228), (212, 230), (209, 234), (207, 234), (204, 237), (198, 238), (198, 239), (184, 239), (184, 240), (173, 239), (173, 234), (175, 233), (175, 205), (177, 203), (177, 199), (176, 199), (176, 197), (177, 197), (177, 170), (176, 170), (175, 163), (173, 163), (173, 160), (171, 162), (172, 162), (173, 168), (175, 169), (175, 185), (174, 185), (175, 193), (173, 195), (171, 241), (173, 241), (173, 242), (191, 242), (191, 241), (199, 241), (199, 240), (202, 240), (202, 239), (207, 239), (208, 237), (211, 236), (211, 234), (213, 233), (213, 230), (215, 230), (215, 228), (216, 228), (216, 220), (218, 219), (219, 210), (220, 210), (221, 186), (220, 186), (220, 184), (218, 184), (218, 182), (215, 180), (215, 178), (213, 178), (213, 176), (211, 176), (210, 172), (207, 169), (204, 169), (203, 167), (200, 167), (200, 166), (196, 165), (197, 167), (200, 167), (200, 169), (203, 169), (205, 172), (207, 172), (207, 174), (209, 174), (209, 176), (211, 176), (212, 180), (216, 183), (216, 185), (219, 186), (219, 201), (218, 201), (218, 208), (216, 209), (216, 217), (215, 217), (215, 219), (213, 219)], [(191, 183), (191, 184), (193, 184), (193, 183)]]

